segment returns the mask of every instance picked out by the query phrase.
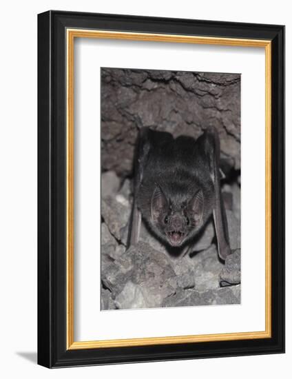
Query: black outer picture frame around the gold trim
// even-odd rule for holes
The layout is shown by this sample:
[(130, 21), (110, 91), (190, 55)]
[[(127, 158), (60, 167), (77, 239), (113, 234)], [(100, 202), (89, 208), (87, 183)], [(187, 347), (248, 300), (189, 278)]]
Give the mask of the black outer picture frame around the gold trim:
[[(271, 41), (271, 338), (67, 349), (67, 28)], [(48, 11), (38, 15), (38, 363), (105, 365), (284, 352), (284, 26)]]

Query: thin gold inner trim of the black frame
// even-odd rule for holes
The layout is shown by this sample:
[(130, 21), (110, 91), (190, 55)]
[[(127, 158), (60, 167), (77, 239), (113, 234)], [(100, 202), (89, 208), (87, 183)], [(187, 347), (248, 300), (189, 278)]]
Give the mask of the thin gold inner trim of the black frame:
[[(67, 37), (67, 349), (98, 349), (102, 347), (129, 347), (166, 345), (223, 340), (251, 340), (271, 338), (271, 41), (233, 39), (219, 37), (183, 36), (176, 34), (151, 34), (136, 32), (112, 32), (105, 30), (66, 30)], [(127, 338), (120, 340), (74, 341), (74, 39), (124, 39), (132, 41), (157, 41), (171, 43), (195, 43), (205, 45), (244, 46), (265, 50), (265, 188), (266, 188), (266, 240), (265, 240), (265, 330), (226, 334), (199, 334), (192, 336), (168, 336)]]

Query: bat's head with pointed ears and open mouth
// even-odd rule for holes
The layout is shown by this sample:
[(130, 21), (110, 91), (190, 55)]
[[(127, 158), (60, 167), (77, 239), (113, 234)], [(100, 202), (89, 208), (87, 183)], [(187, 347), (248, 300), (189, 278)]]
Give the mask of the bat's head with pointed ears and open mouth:
[(156, 185), (151, 201), (152, 223), (160, 237), (172, 247), (180, 247), (194, 236), (202, 224), (203, 214), (202, 189), (197, 189), (186, 201), (185, 198), (167, 198)]

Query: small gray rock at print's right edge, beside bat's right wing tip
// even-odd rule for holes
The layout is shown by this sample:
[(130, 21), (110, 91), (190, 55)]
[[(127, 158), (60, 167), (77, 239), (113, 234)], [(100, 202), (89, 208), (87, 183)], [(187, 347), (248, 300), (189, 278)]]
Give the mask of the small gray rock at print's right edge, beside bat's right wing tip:
[(240, 283), (240, 249), (236, 249), (227, 256), (225, 266), (220, 272), (220, 285), (222, 287)]

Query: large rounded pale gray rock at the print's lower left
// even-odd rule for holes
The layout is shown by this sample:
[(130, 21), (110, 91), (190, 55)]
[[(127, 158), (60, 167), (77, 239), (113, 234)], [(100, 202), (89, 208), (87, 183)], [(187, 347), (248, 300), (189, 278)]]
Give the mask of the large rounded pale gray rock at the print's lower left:
[(159, 307), (177, 287), (170, 259), (142, 242), (114, 262), (103, 257), (101, 277), (105, 287), (112, 291), (116, 306), (123, 309), (129, 306), (130, 294), (132, 307), (139, 307), (142, 297), (143, 306)]

